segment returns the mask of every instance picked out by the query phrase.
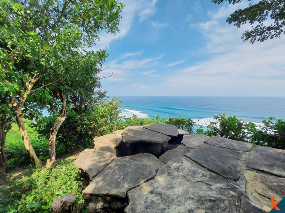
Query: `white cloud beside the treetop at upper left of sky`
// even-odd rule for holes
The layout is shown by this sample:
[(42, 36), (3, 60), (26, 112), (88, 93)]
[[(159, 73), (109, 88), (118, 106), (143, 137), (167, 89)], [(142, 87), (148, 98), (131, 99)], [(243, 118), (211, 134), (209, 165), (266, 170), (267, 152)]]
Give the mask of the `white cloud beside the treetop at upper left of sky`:
[(109, 48), (111, 42), (122, 39), (128, 34), (135, 16), (138, 16), (140, 21), (144, 21), (154, 15), (157, 10), (155, 7), (157, 0), (122, 0), (121, 2), (125, 4), (125, 7), (121, 12), (122, 18), (119, 24), (120, 32), (116, 35), (110, 33), (106, 34), (105, 32), (100, 33), (99, 37), (101, 41), (97, 41), (97, 45), (94, 49)]

